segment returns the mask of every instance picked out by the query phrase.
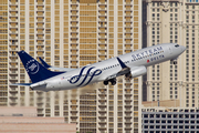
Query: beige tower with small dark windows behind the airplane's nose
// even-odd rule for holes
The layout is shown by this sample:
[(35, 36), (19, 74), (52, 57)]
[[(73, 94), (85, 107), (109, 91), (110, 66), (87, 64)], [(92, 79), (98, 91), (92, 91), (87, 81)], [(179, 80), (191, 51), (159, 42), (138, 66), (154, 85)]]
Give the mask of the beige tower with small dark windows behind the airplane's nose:
[(144, 101), (179, 100), (181, 108), (198, 108), (198, 0), (144, 0), (144, 47), (172, 42), (187, 48), (177, 65), (168, 61), (148, 69)]

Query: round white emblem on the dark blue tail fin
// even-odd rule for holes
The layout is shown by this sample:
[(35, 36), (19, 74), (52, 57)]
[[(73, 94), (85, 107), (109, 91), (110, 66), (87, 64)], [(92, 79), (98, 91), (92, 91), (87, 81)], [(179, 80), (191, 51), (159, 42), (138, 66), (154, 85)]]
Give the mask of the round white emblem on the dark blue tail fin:
[(38, 64), (38, 62), (34, 59), (28, 61), (25, 64), (25, 70), (30, 74), (38, 73), (39, 69), (40, 69), (40, 65)]

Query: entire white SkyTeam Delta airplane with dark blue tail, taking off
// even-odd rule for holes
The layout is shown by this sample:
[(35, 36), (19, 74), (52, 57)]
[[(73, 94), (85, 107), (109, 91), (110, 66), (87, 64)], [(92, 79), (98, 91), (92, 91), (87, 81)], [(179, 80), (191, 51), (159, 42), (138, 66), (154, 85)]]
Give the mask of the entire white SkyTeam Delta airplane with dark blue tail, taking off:
[[(25, 51), (19, 51), (18, 54), (32, 83), (14, 83), (11, 85), (27, 85), (32, 90), (45, 92), (77, 89), (96, 82), (103, 82), (104, 85), (111, 82), (112, 85), (115, 85), (117, 76), (125, 75), (133, 79), (144, 75), (147, 73), (147, 66), (169, 60), (177, 64), (178, 57), (185, 50), (184, 45), (177, 43), (163, 43), (83, 68), (65, 68), (65, 70), (60, 69), (60, 71), (51, 71), (48, 68), (54, 66), (46, 64), (44, 61), (41, 61), (42, 65)], [(54, 70), (59, 69), (55, 68)]]

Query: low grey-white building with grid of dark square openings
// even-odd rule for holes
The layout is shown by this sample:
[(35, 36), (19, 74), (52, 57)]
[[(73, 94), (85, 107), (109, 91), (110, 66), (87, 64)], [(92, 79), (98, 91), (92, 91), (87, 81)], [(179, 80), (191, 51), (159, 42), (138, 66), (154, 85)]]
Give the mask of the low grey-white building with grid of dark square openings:
[(143, 133), (197, 133), (198, 109), (146, 108), (142, 111)]

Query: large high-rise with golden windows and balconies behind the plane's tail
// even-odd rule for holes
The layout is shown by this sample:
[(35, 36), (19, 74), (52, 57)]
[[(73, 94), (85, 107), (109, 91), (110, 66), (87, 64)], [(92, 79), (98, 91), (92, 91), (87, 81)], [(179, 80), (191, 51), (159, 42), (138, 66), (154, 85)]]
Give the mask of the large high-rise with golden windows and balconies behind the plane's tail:
[(38, 116), (64, 116), (80, 132), (138, 132), (142, 78), (92, 86), (84, 95), (9, 84), (30, 82), (19, 50), (80, 68), (142, 49), (140, 0), (0, 0), (0, 105), (36, 106)]

